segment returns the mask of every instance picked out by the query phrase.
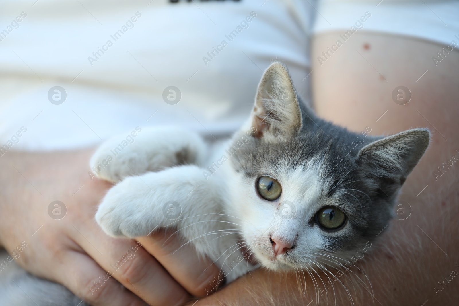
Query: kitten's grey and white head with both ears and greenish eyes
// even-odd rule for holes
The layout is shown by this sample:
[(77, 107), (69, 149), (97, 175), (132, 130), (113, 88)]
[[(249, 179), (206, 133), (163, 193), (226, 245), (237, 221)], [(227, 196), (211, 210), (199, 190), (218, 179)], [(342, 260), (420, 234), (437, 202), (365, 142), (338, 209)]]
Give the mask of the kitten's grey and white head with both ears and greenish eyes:
[(366, 250), (386, 227), (430, 133), (374, 137), (369, 130), (319, 119), (298, 100), (282, 64), (266, 70), (252, 115), (234, 137), (229, 183), (229, 213), (265, 267), (334, 265)]

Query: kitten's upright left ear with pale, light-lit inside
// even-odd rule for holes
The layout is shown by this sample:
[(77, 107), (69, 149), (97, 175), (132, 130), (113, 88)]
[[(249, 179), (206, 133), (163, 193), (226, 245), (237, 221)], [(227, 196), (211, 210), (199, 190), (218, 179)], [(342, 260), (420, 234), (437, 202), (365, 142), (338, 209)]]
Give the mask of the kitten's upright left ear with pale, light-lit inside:
[(302, 128), (302, 115), (297, 93), (287, 69), (279, 62), (272, 63), (258, 85), (252, 112), (255, 137), (269, 134), (294, 134)]

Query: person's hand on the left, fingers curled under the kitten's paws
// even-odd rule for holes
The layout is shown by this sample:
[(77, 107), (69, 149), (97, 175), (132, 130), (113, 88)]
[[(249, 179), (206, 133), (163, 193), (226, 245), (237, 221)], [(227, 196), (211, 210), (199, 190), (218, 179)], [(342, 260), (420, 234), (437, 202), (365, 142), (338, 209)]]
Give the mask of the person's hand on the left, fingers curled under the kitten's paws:
[[(11, 252), (25, 241), (19, 265), (95, 306), (182, 305), (206, 295), (219, 269), (190, 245), (176, 251), (184, 244), (176, 235), (155, 232), (136, 242), (102, 232), (94, 214), (111, 185), (90, 179), (92, 152), (1, 156), (0, 245)], [(65, 205), (57, 216), (53, 205), (48, 212), (55, 200)]]

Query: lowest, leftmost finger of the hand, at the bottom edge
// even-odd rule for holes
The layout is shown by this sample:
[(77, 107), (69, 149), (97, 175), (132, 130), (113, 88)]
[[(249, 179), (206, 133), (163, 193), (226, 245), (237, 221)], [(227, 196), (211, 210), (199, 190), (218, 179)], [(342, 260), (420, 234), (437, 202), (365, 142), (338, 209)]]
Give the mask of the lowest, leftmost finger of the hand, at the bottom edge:
[(70, 251), (58, 266), (57, 281), (93, 306), (145, 306), (89, 256)]

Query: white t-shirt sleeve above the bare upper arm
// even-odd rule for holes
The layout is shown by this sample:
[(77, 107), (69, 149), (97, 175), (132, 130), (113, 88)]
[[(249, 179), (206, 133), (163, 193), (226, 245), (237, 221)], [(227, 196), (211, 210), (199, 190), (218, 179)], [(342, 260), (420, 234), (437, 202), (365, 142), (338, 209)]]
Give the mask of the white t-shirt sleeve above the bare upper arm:
[(357, 31), (404, 35), (443, 46), (451, 45), (452, 40), (459, 44), (458, 0), (320, 0), (317, 10), (314, 33), (354, 27)]

